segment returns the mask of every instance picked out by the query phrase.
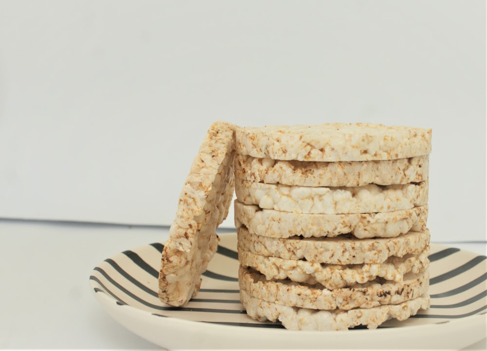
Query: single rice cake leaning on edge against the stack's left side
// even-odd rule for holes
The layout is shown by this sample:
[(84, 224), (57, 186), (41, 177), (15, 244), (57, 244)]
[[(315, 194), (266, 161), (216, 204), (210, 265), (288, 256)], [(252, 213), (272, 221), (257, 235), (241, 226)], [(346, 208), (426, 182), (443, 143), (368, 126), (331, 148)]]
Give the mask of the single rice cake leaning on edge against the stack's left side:
[(228, 215), (235, 175), (235, 126), (215, 122), (195, 157), (164, 245), (159, 299), (184, 306), (200, 288), (201, 274), (218, 246), (217, 226)]

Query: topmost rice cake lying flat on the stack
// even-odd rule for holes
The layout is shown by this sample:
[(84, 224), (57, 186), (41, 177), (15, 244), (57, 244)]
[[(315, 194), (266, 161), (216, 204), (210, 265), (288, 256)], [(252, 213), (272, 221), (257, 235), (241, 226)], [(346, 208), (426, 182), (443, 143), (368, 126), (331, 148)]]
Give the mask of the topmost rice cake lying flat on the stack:
[(431, 152), (431, 129), (372, 123), (237, 128), (237, 153), (273, 160), (394, 160)]

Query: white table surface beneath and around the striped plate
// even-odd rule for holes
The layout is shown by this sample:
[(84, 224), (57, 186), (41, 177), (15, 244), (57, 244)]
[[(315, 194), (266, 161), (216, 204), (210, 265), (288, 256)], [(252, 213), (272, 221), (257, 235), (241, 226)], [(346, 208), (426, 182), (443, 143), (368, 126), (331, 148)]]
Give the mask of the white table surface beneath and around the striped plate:
[[(0, 237), (0, 349), (160, 349), (106, 314), (88, 278), (114, 254), (165, 241), (167, 227), (0, 220)], [(486, 242), (445, 244), (486, 255)]]

